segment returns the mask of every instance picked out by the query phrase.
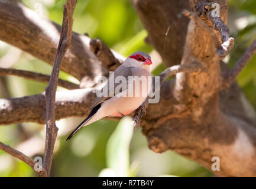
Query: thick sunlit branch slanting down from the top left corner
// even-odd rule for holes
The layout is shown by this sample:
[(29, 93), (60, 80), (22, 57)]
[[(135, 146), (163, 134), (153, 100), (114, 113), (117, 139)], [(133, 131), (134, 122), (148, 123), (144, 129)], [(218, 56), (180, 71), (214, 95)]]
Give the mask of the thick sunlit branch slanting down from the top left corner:
[[(22, 4), (0, 1), (0, 40), (53, 64), (60, 38), (60, 25), (38, 15)], [(73, 32), (72, 47), (67, 51), (61, 70), (78, 80), (83, 87), (93, 86), (95, 77), (106, 69), (90, 51), (90, 38)]]

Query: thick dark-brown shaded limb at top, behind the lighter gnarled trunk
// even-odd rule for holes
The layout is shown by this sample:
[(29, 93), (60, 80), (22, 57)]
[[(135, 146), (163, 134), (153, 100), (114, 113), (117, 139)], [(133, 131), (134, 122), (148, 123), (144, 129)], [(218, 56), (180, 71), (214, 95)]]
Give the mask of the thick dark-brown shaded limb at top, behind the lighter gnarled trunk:
[(189, 23), (189, 19), (184, 19), (181, 12), (182, 9), (189, 8), (188, 1), (131, 0), (131, 2), (148, 32), (147, 43), (158, 51), (166, 67), (179, 64), (182, 60)]

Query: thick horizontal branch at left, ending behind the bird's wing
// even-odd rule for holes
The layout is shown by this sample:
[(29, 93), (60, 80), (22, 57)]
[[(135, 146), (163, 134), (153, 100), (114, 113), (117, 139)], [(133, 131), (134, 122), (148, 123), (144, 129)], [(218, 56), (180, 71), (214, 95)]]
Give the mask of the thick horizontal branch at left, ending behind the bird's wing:
[[(95, 89), (67, 90), (56, 93), (56, 120), (86, 116), (96, 95)], [(45, 94), (0, 99), (0, 125), (12, 123), (46, 123)]]

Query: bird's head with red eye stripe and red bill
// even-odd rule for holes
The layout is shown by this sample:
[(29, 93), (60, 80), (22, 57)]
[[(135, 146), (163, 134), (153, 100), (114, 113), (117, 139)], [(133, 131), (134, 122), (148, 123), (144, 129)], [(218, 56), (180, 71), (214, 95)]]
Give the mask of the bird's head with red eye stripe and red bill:
[(139, 67), (141, 69), (149, 71), (152, 61), (149, 54), (144, 53), (142, 51), (137, 51), (135, 53), (132, 53), (127, 58), (127, 60), (125, 60), (124, 64), (127, 64), (127, 66)]

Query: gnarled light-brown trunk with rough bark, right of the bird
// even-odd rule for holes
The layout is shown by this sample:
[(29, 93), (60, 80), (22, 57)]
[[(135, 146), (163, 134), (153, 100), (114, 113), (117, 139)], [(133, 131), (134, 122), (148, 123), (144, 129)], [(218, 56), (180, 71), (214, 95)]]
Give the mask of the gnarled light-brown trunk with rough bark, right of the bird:
[[(138, 5), (151, 1), (134, 2)], [(215, 2), (221, 5), (221, 18), (226, 22), (227, 1)], [(140, 15), (141, 10), (138, 12)], [(143, 16), (148, 15), (144, 12)], [(148, 30), (149, 35), (154, 32), (153, 28)], [(214, 32), (221, 42), (221, 35)], [(148, 106), (143, 133), (147, 136), (149, 148), (155, 152), (171, 149), (209, 170), (213, 164), (212, 157), (219, 157), (221, 171), (215, 171), (216, 175), (255, 176), (255, 114), (236, 84), (219, 93), (222, 62), (214, 44), (209, 32), (192, 19), (188, 25), (182, 64), (199, 60), (206, 67), (206, 72), (179, 73), (175, 81), (166, 82), (164, 91), (170, 94), (163, 94), (162, 90), (160, 102)], [(163, 54), (163, 51), (159, 53)], [(173, 58), (165, 58), (164, 61), (172, 62)]]

